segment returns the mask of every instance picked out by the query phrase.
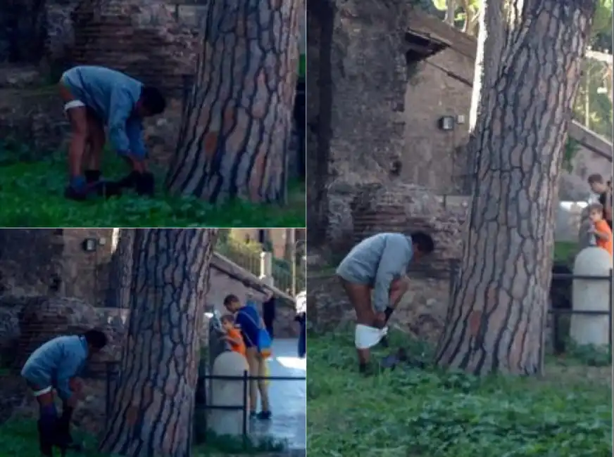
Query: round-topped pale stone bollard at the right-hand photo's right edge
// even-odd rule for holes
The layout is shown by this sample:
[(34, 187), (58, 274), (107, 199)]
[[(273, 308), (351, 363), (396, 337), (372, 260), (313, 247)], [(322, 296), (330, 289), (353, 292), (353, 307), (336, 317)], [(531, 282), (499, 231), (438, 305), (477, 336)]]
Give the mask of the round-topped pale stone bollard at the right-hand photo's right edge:
[[(601, 247), (584, 247), (576, 256), (573, 273), (577, 276), (610, 276), (612, 257)], [(610, 281), (574, 279), (572, 309), (609, 311)], [(572, 314), (570, 337), (579, 345), (607, 347), (610, 321), (607, 314)]]

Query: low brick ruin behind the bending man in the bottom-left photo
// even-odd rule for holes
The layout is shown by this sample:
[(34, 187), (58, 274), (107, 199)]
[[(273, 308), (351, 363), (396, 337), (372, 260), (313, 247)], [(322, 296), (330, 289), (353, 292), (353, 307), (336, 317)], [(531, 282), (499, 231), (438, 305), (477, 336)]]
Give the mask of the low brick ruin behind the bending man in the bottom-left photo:
[[(1, 297), (0, 351), (4, 363), (18, 371), (27, 357), (57, 335), (78, 335), (100, 328), (108, 336), (104, 352), (88, 365), (84, 401), (75, 411), (75, 424), (93, 435), (104, 429), (106, 418), (106, 363), (120, 361), (125, 310), (92, 307), (82, 300), (61, 297)], [(5, 386), (5, 382), (8, 384)], [(38, 406), (18, 377), (3, 378), (0, 406), (8, 416), (35, 417)], [(0, 417), (0, 420), (6, 417)]]

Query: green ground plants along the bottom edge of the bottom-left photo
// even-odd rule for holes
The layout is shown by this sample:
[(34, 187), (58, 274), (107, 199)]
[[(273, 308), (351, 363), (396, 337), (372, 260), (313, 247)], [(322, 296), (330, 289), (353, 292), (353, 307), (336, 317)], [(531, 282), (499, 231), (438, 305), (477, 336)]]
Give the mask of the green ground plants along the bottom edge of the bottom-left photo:
[[(83, 453), (67, 453), (69, 457), (108, 457), (96, 451), (96, 439), (80, 432), (75, 439), (84, 444)], [(35, 420), (8, 420), (0, 425), (1, 456), (39, 457), (37, 425)], [(278, 453), (285, 449), (283, 442), (275, 439), (252, 439), (247, 437), (227, 437), (209, 432), (206, 444), (194, 447), (194, 457), (225, 455), (258, 455)]]

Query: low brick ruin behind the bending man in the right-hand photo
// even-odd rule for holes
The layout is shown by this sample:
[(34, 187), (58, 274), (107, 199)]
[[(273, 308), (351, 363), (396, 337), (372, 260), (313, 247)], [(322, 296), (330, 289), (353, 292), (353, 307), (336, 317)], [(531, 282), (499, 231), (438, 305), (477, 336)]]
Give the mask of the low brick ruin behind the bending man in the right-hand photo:
[[(368, 184), (356, 192), (351, 204), (352, 233), (348, 246), (384, 231), (422, 230), (431, 233), (437, 255), (411, 269), (410, 289), (393, 315), (393, 326), (436, 342), (444, 325), (456, 263), (462, 256), (463, 224), (467, 205), (449, 205), (426, 188), (412, 184)], [(349, 249), (346, 248), (345, 252)], [(330, 273), (310, 274), (308, 318), (323, 330), (353, 321), (337, 278)]]

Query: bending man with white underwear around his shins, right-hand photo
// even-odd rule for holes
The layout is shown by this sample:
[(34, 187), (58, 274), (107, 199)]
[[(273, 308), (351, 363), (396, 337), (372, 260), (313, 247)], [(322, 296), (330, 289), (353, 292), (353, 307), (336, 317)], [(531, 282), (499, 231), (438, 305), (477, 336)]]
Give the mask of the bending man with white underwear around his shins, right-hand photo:
[(369, 348), (385, 337), (392, 311), (407, 291), (409, 262), (433, 250), (433, 239), (427, 233), (378, 233), (358, 243), (337, 267), (337, 276), (356, 311), (361, 373), (367, 370)]

